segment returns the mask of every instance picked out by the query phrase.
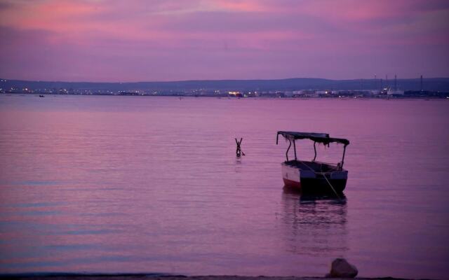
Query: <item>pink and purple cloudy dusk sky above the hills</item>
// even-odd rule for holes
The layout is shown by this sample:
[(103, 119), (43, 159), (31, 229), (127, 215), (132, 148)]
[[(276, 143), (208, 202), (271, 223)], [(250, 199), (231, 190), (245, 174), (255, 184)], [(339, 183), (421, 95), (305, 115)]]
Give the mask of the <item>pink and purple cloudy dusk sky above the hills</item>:
[(0, 77), (449, 76), (449, 1), (0, 0)]

